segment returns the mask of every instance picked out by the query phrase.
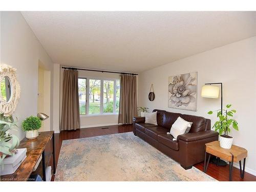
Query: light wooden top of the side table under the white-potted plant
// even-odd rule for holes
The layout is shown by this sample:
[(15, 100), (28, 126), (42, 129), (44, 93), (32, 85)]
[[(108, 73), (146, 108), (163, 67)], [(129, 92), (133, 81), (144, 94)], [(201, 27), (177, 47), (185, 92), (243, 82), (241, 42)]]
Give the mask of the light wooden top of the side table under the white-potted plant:
[(226, 148), (222, 148), (220, 146), (220, 141), (212, 141), (210, 143), (206, 143), (206, 152), (220, 157), (221, 159), (231, 161), (232, 155), (234, 156), (234, 162), (238, 162), (247, 157), (247, 150), (243, 147), (232, 145), (228, 150)]

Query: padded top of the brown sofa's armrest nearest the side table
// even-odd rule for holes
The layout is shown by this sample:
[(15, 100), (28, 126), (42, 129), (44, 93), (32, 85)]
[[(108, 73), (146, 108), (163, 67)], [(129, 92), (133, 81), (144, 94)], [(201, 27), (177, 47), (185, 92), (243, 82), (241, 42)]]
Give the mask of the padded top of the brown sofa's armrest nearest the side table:
[(197, 140), (206, 139), (210, 137), (216, 137), (218, 135), (219, 133), (215, 131), (201, 131), (201, 132), (195, 132), (195, 133), (186, 133), (183, 135), (179, 135), (177, 137), (177, 141), (178, 140), (182, 140), (185, 142), (197, 141)]

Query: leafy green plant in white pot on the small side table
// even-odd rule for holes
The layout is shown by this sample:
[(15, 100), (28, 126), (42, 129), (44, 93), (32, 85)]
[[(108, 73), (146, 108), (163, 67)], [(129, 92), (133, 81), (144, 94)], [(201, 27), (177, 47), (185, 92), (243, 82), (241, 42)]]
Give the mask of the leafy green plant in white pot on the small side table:
[[(230, 126), (232, 125), (234, 130), (238, 131), (238, 122), (234, 119), (232, 119), (233, 114), (236, 113), (236, 110), (229, 110), (231, 107), (231, 104), (226, 105), (226, 110), (217, 110), (217, 117), (219, 118), (219, 121), (216, 121), (214, 126), (212, 128), (215, 128), (215, 131), (218, 131), (220, 136), (220, 146), (222, 148), (231, 148), (233, 137), (229, 136), (228, 133), (230, 133)], [(208, 114), (211, 115), (213, 112), (209, 111)]]

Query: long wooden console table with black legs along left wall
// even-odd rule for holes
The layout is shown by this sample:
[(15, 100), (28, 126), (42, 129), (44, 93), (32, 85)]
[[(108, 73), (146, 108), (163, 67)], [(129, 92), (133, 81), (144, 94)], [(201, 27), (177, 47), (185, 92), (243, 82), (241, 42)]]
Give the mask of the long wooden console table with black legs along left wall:
[[(50, 158), (46, 158), (46, 146), (52, 139), (52, 152)], [(49, 143), (50, 144), (50, 143)], [(42, 179), (46, 181), (46, 165), (53, 156), (53, 174), (55, 174), (55, 147), (54, 147), (54, 132), (41, 132), (36, 139), (23, 139), (18, 148), (27, 148), (27, 157), (19, 165), (16, 172), (10, 175), (1, 176), (1, 181), (28, 181), (32, 170), (42, 155)], [(46, 161), (48, 159), (48, 162)]]

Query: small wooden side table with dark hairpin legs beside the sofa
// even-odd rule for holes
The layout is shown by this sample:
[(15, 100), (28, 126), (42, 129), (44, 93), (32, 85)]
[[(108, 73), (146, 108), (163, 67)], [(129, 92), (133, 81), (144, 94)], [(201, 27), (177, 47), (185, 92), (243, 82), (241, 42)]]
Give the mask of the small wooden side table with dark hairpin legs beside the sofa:
[[(206, 164), (206, 155), (209, 154), (208, 161)], [(247, 157), (247, 150), (240, 146), (232, 145), (228, 150), (220, 146), (220, 141), (212, 141), (205, 144), (205, 157), (204, 157), (204, 173), (207, 171), (207, 167), (210, 161), (210, 156), (214, 155), (218, 158), (226, 160), (229, 162), (229, 181), (232, 181), (232, 168), (233, 162), (238, 162), (240, 165), (240, 176), (244, 178), (244, 168), (245, 168), (245, 159)], [(244, 160), (243, 170), (241, 160)]]

